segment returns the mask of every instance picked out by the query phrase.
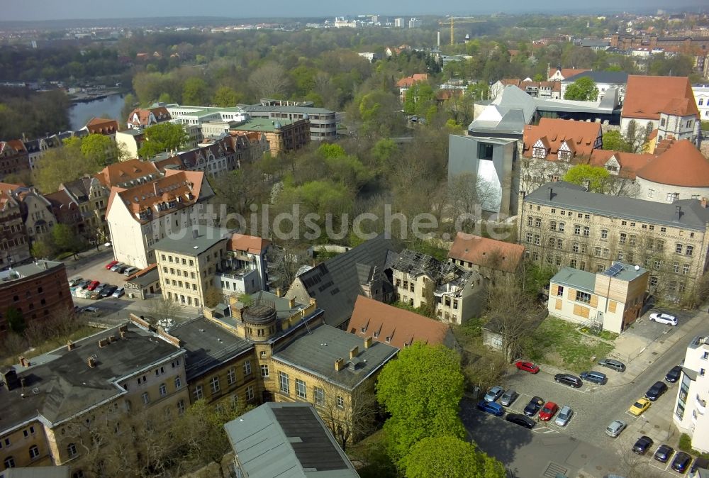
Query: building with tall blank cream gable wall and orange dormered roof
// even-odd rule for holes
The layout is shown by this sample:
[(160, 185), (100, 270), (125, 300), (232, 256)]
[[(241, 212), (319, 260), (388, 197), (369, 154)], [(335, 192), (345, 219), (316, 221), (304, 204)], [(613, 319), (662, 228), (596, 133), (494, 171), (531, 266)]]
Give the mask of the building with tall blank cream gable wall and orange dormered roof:
[(155, 264), (157, 241), (211, 222), (202, 214), (201, 204), (213, 196), (200, 171), (165, 169), (162, 177), (111, 187), (106, 222), (114, 258), (140, 269)]

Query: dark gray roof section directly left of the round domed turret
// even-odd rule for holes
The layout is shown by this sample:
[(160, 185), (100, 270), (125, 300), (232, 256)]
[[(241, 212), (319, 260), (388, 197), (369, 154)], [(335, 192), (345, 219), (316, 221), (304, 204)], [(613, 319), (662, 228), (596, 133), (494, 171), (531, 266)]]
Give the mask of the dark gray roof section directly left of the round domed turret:
[(219, 367), (253, 348), (253, 345), (206, 318), (196, 318), (171, 328), (169, 334), (181, 340), (187, 350), (185, 372), (187, 382)]

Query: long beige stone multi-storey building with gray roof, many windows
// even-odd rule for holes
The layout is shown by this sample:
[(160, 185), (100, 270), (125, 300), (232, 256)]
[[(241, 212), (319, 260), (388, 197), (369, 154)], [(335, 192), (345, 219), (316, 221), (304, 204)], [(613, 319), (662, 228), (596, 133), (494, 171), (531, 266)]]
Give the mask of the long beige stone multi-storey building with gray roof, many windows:
[(707, 201), (671, 204), (586, 191), (565, 182), (520, 193), (518, 238), (535, 262), (603, 272), (613, 261), (650, 271), (648, 289), (666, 299), (693, 293), (707, 267)]

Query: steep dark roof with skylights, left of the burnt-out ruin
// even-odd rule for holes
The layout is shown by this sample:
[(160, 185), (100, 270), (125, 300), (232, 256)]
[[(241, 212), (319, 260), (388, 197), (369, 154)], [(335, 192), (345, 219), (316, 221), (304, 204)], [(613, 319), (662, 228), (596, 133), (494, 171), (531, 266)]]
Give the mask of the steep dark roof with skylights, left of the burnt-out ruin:
[(303, 272), (298, 279), (308, 296), (318, 301), (318, 309), (325, 310), (325, 321), (339, 326), (352, 316), (354, 302), (362, 292), (359, 277), (363, 268), (358, 265), (376, 267), (377, 274), (383, 274), (390, 250), (391, 241), (378, 235)]

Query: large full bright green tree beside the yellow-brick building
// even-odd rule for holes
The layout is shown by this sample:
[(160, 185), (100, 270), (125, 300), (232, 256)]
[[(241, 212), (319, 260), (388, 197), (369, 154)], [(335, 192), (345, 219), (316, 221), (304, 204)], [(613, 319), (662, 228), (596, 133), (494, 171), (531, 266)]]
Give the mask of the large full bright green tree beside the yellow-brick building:
[(384, 423), (386, 448), (397, 466), (427, 437), (464, 438), (458, 416), (463, 396), (460, 357), (443, 345), (413, 343), (387, 363), (376, 383), (376, 398), (391, 414)]

